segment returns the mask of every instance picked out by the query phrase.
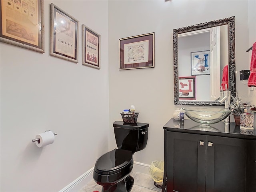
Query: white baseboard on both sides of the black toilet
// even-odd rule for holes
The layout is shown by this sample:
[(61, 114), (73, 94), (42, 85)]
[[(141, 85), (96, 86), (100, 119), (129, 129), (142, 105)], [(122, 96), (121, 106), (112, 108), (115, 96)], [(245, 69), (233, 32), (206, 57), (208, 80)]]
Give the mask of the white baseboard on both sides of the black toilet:
[[(85, 186), (88, 182), (90, 182), (90, 180), (92, 180), (93, 169), (94, 167), (88, 170), (86, 173), (82, 174), (80, 177), (78, 177), (76, 180), (64, 187), (59, 192), (79, 192), (80, 189), (83, 188), (83, 186)], [(144, 173), (149, 175), (150, 165), (134, 161), (132, 172)]]

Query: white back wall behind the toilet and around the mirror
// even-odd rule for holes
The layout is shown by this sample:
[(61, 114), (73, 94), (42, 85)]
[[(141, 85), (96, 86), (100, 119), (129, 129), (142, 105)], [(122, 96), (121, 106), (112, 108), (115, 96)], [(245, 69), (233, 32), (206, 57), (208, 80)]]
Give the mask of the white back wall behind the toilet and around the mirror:
[[(164, 158), (163, 126), (177, 107), (173, 104), (172, 30), (235, 16), (236, 65), (242, 70), (248, 63), (245, 50), (251, 46), (247, 3), (243, 0), (109, 1), (110, 122), (122, 120), (119, 113), (133, 104), (140, 112), (138, 122), (150, 125), (147, 147), (134, 154), (135, 161), (150, 164)], [(150, 32), (155, 32), (155, 67), (119, 71), (118, 39)], [(242, 86), (238, 84), (238, 91)], [(111, 127), (110, 141), (110, 148), (115, 148)]]

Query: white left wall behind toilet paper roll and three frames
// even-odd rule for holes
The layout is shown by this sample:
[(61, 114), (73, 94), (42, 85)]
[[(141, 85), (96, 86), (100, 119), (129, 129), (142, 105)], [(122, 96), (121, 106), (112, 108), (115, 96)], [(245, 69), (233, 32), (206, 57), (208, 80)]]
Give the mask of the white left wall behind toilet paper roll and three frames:
[[(80, 21), (79, 62), (49, 55), (50, 3)], [(101, 34), (101, 69), (82, 65), (82, 24)], [(45, 53), (1, 43), (1, 192), (56, 192), (108, 151), (108, 2), (45, 1)], [(57, 132), (53, 144), (31, 140)]]

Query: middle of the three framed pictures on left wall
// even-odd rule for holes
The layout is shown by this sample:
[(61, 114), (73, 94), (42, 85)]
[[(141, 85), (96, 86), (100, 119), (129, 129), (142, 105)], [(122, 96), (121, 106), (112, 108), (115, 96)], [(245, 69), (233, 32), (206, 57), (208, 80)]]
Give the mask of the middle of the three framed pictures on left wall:
[(79, 21), (51, 3), (50, 55), (78, 63)]

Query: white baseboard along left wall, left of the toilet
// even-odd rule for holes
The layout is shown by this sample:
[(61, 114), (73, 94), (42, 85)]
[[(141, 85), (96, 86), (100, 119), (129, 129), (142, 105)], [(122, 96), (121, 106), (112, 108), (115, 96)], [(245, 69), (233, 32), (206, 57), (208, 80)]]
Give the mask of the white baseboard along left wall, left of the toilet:
[(59, 192), (79, 192), (80, 189), (83, 188), (90, 180), (92, 180), (92, 173), (93, 168), (82, 174), (80, 177), (78, 177), (76, 180), (74, 180), (72, 183), (64, 187)]

